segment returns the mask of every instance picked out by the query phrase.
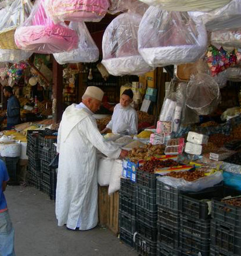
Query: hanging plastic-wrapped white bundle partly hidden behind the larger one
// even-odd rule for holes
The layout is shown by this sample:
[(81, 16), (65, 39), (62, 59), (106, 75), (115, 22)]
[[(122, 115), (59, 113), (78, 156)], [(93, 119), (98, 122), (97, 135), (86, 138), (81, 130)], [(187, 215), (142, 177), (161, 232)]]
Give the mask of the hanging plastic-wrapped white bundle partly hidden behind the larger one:
[(138, 52), (138, 28), (142, 16), (120, 14), (103, 35), (102, 64), (112, 75), (138, 75), (152, 70)]

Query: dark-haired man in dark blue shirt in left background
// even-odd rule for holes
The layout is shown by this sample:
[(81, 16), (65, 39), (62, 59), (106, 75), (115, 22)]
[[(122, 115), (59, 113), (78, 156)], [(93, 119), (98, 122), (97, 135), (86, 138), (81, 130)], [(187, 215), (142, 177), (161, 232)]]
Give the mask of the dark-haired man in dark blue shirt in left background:
[(8, 105), (6, 107), (6, 129), (12, 129), (19, 124), (20, 119), (20, 103), (12, 92), (12, 87), (4, 87), (4, 96), (8, 98)]

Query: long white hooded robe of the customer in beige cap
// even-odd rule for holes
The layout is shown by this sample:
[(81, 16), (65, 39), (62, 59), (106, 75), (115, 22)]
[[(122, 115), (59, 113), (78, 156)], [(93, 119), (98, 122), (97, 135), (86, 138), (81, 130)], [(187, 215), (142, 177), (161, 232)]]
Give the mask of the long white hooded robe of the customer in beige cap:
[(58, 131), (59, 168), (56, 188), (58, 225), (89, 230), (98, 224), (96, 148), (109, 158), (120, 149), (105, 142), (86, 107), (72, 104), (63, 113)]

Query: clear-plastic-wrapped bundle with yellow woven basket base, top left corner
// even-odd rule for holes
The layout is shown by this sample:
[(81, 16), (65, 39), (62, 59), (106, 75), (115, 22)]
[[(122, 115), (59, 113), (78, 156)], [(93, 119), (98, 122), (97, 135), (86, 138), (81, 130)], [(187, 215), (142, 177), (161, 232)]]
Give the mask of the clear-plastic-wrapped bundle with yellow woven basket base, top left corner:
[(1, 16), (0, 23), (0, 48), (18, 49), (15, 44), (14, 33), (16, 28), (28, 18), (33, 6), (30, 0), (15, 0)]

